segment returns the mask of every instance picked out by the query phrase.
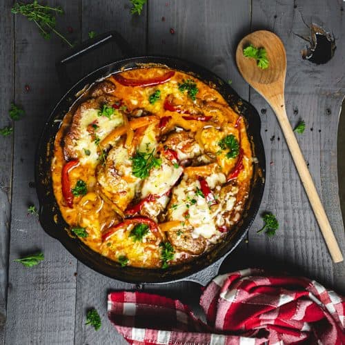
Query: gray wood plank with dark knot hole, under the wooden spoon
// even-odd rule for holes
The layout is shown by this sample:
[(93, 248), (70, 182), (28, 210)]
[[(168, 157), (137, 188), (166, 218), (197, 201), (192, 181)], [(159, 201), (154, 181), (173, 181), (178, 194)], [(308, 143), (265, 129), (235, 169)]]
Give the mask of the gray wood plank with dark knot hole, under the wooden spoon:
[[(339, 245), (345, 253), (336, 161), (339, 108), (345, 91), (344, 71), (339, 69), (344, 63), (345, 49), (341, 6), (339, 1), (253, 1), (252, 29), (273, 30), (286, 46), (288, 117), (293, 126), (299, 118), (306, 121), (306, 131), (297, 138)], [(304, 21), (321, 22), (337, 37), (335, 57), (326, 65), (316, 66), (302, 59), (300, 51), (306, 42), (296, 34), (309, 34)], [(302, 273), (344, 293), (344, 263), (331, 262), (277, 120), (262, 97), (254, 91), (250, 95), (250, 101), (258, 110), (267, 108), (266, 115), (262, 115), (268, 166), (262, 211), (275, 213), (281, 228), (272, 239), (252, 232), (250, 253), (253, 259), (249, 261), (258, 263), (262, 258), (264, 265), (270, 262), (269, 265), (275, 268), (284, 267)], [(261, 226), (262, 221), (257, 217), (254, 227)], [(272, 265), (272, 262), (275, 264)]]

